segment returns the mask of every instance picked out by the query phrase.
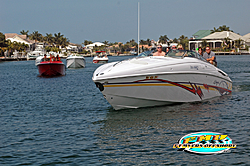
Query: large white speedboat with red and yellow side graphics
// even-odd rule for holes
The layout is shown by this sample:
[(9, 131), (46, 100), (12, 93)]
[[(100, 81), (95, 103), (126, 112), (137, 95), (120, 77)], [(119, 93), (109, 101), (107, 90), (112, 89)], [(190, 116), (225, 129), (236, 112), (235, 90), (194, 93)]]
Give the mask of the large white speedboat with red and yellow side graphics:
[(104, 64), (92, 80), (116, 110), (195, 102), (232, 91), (225, 72), (186, 50)]

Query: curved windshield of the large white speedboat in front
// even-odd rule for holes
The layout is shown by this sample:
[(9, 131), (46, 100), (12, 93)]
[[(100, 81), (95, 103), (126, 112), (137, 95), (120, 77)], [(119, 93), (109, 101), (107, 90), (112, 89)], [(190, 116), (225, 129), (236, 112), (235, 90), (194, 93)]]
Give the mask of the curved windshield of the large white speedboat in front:
[(201, 56), (200, 54), (198, 54), (197, 52), (194, 51), (190, 51), (190, 50), (172, 50), (170, 49), (165, 57), (172, 57), (172, 58), (185, 58), (185, 57), (191, 57), (191, 58), (197, 58), (200, 59), (202, 61), (206, 61), (205, 58), (203, 58), (203, 56)]

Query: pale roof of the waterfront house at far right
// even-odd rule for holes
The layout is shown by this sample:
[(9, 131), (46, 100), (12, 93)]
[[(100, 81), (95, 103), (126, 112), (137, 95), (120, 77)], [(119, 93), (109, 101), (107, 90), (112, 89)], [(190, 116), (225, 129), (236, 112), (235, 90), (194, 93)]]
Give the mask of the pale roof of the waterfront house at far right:
[(222, 31), (222, 32), (214, 32), (206, 37), (203, 37), (202, 39), (214, 39), (214, 40), (218, 40), (218, 39), (225, 39), (225, 38), (229, 38), (231, 40), (239, 40), (239, 39), (243, 39), (243, 37), (241, 35), (238, 35), (234, 32), (231, 31)]

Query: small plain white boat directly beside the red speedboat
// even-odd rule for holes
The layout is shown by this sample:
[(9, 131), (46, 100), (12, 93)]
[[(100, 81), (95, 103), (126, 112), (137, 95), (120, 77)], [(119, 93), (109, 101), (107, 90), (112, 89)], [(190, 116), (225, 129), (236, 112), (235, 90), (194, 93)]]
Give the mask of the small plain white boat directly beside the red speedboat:
[(85, 58), (80, 55), (70, 55), (66, 61), (67, 68), (83, 68), (86, 66)]

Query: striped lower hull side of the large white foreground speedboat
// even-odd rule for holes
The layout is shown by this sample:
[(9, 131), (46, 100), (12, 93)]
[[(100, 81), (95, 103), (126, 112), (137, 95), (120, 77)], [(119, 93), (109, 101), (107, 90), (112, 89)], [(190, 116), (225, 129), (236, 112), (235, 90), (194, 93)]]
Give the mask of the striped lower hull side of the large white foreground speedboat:
[(232, 91), (230, 80), (201, 73), (155, 74), (95, 83), (116, 110), (202, 101)]

